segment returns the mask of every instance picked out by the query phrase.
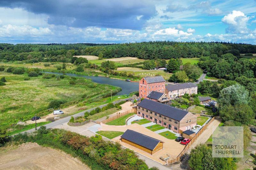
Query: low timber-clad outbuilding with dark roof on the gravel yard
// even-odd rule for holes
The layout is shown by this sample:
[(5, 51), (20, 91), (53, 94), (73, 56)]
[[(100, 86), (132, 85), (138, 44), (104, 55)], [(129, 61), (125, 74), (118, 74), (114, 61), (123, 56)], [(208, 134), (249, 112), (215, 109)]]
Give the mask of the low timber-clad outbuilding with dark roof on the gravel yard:
[(148, 152), (151, 155), (163, 149), (163, 141), (143, 135), (139, 132), (127, 129), (124, 134), (121, 136), (121, 141), (136, 148), (141, 149), (142, 151)]

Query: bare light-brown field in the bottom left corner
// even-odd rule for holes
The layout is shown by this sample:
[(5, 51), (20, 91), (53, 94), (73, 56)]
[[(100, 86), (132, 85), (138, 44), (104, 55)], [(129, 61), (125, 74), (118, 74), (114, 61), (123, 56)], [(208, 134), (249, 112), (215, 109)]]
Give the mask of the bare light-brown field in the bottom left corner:
[(0, 148), (0, 169), (90, 169), (72, 156), (36, 143)]

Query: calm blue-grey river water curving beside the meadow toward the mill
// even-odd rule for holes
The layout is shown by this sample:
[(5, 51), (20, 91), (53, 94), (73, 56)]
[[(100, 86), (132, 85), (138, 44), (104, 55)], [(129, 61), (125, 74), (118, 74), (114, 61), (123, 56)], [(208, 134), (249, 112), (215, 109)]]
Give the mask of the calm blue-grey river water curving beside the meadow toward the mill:
[(108, 84), (108, 85), (114, 85), (114, 86), (121, 87), (122, 90), (120, 92), (116, 93), (115, 95), (130, 94), (131, 92), (135, 92), (135, 91), (139, 90), (138, 82), (129, 82), (129, 81), (118, 80), (118, 79), (113, 79), (113, 78), (108, 78), (108, 77), (101, 77), (101, 76), (98, 76), (98, 77), (84, 76), (84, 75), (72, 74), (72, 73), (57, 73), (57, 72), (47, 72), (47, 71), (44, 71), (44, 73), (90, 78), (95, 83)]

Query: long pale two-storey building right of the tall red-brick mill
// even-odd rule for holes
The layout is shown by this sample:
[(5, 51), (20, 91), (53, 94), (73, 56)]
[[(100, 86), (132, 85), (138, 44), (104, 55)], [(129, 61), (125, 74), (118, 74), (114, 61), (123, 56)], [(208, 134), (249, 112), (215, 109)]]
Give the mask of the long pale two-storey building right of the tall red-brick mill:
[(197, 94), (197, 86), (193, 83), (182, 83), (177, 85), (167, 85), (165, 87), (165, 93), (170, 96), (170, 98), (175, 98), (179, 96), (183, 96), (188, 93)]

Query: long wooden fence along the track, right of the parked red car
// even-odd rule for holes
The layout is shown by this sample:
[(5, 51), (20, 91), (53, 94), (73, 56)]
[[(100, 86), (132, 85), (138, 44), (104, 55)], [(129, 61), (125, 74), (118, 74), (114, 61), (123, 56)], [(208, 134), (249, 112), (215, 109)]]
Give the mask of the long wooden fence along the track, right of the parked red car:
[(168, 164), (172, 164), (174, 162), (178, 162), (178, 160), (180, 160), (180, 158), (184, 155), (184, 153), (186, 151), (188, 151), (189, 147), (195, 142), (195, 140), (203, 133), (203, 131), (209, 126), (209, 124), (212, 123), (212, 121), (215, 119), (215, 117), (213, 117), (207, 124), (205, 124), (203, 126), (202, 129), (200, 129), (197, 134), (195, 135), (195, 137), (193, 137), (191, 139), (191, 141), (185, 146), (185, 148), (183, 149), (182, 152), (180, 152), (180, 154), (177, 156), (177, 158), (174, 158), (174, 159), (171, 159), (171, 160), (168, 160)]

